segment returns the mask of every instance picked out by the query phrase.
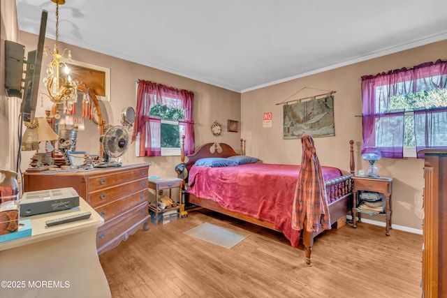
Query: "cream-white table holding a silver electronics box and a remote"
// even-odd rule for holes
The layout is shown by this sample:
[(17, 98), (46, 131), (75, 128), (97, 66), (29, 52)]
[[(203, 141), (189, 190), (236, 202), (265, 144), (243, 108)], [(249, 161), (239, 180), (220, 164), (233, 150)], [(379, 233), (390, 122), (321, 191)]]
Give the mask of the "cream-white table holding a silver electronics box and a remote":
[[(82, 221), (47, 227), (45, 221), (90, 211)], [(0, 243), (1, 297), (111, 297), (96, 252), (103, 218), (80, 198), (80, 206), (22, 217), (29, 237)]]

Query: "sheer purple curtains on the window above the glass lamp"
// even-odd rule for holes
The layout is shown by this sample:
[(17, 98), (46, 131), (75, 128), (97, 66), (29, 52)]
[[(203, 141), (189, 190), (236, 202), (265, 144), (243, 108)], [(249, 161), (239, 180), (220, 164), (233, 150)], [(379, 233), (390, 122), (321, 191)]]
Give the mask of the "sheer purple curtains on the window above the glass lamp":
[[(394, 96), (415, 94), (419, 91), (444, 89), (447, 83), (447, 61), (427, 62), (413, 68), (390, 70), (378, 75), (362, 77), (362, 153), (367, 147), (377, 147), (383, 157), (402, 158), (404, 148), (404, 112), (393, 110)], [(437, 125), (433, 117), (443, 109), (434, 112), (430, 108), (415, 111), (415, 137), (418, 149), (432, 147), (429, 141), (437, 137)], [(430, 120), (429, 120), (430, 119)], [(445, 127), (445, 126), (444, 126)], [(430, 136), (430, 137), (427, 137)]]

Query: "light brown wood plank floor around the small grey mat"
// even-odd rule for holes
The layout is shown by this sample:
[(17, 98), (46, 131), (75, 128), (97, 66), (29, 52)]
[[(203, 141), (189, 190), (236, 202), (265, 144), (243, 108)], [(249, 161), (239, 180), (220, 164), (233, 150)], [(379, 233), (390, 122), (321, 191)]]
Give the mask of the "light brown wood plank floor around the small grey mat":
[[(249, 232), (231, 249), (184, 234), (201, 223)], [(282, 234), (189, 211), (99, 256), (112, 297), (420, 297), (422, 236), (359, 223), (316, 237), (313, 266)]]

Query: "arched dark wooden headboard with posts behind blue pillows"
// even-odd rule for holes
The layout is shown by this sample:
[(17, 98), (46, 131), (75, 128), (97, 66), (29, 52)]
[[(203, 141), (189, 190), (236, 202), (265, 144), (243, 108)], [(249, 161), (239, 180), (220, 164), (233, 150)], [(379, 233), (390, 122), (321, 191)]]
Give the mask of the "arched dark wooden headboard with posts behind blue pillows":
[[(182, 155), (181, 160), (184, 162), (184, 136), (182, 136)], [(240, 139), (240, 153), (237, 153), (229, 144), (226, 143), (206, 143), (200, 146), (194, 154), (188, 156), (188, 161), (186, 161), (186, 169), (191, 170), (191, 167), (200, 158), (207, 157), (228, 157), (235, 155), (244, 154), (244, 140)]]

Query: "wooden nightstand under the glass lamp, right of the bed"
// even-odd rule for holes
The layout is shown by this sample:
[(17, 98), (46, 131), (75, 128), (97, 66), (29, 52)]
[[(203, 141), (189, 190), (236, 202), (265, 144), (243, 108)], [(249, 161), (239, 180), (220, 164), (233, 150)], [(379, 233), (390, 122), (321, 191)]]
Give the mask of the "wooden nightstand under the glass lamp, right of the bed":
[[(371, 214), (371, 215), (384, 215), (386, 216), (386, 236), (390, 236), (391, 228), (391, 194), (393, 193), (393, 178), (390, 177), (353, 177), (353, 208), (352, 208), (352, 218), (353, 218), (353, 228), (357, 228), (357, 215), (358, 222), (360, 223), (362, 218), (361, 214)], [(359, 191), (381, 193), (385, 196), (385, 212), (379, 212), (379, 214), (374, 214), (373, 212), (360, 209), (361, 199), (357, 199)]]

